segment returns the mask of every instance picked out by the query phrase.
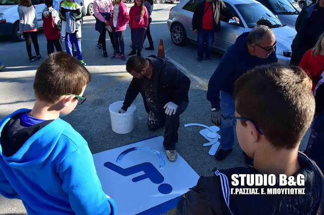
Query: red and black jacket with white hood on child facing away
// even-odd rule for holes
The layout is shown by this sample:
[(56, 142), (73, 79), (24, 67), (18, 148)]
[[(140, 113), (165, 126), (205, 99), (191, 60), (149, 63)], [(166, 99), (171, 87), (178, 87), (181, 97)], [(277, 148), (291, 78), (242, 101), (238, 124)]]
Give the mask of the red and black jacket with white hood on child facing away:
[(57, 11), (52, 7), (44, 9), (42, 19), (46, 39), (60, 39), (61, 21)]

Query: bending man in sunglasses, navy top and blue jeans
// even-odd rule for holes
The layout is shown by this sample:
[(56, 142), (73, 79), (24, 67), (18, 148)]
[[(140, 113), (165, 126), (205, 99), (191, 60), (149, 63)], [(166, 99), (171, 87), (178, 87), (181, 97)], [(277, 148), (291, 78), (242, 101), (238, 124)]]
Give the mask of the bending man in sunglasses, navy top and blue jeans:
[(207, 99), (212, 103), (211, 121), (220, 126), (221, 148), (215, 157), (226, 158), (232, 152), (234, 144), (233, 127), (235, 106), (233, 100), (233, 84), (248, 70), (255, 66), (276, 62), (268, 58), (275, 50), (273, 30), (267, 26), (257, 26), (247, 38), (242, 37), (227, 49), (216, 71), (212, 75), (207, 91)]

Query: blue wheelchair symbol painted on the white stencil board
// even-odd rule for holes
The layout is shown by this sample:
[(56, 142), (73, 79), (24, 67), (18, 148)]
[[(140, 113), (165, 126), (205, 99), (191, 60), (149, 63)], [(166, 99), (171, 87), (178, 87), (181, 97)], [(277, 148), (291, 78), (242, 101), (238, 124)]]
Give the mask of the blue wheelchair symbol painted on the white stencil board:
[[(147, 150), (150, 152), (153, 152), (154, 154), (156, 154), (159, 158), (160, 158), (160, 169), (163, 169), (165, 166), (165, 159), (163, 157), (163, 155), (158, 152), (157, 150), (154, 150), (152, 148), (149, 147), (134, 147), (134, 148), (129, 148), (123, 152), (121, 152), (119, 154), (119, 156), (117, 157), (116, 163), (121, 164), (121, 161), (123, 160), (123, 157), (134, 150)], [(139, 165), (135, 165), (133, 167), (129, 167), (129, 168), (121, 168), (117, 165), (114, 165), (110, 162), (106, 162), (104, 164), (104, 166), (122, 176), (130, 176), (133, 175), (135, 173), (139, 173), (139, 172), (144, 172), (143, 175), (135, 177), (132, 179), (133, 182), (139, 182), (142, 181), (144, 179), (149, 179), (152, 183), (154, 184), (160, 184), (158, 186), (158, 191), (162, 194), (169, 194), (172, 192), (172, 186), (170, 184), (161, 184), (164, 182), (164, 177), (163, 175), (160, 174), (160, 172), (154, 167), (154, 165), (152, 165), (151, 163), (145, 162)]]

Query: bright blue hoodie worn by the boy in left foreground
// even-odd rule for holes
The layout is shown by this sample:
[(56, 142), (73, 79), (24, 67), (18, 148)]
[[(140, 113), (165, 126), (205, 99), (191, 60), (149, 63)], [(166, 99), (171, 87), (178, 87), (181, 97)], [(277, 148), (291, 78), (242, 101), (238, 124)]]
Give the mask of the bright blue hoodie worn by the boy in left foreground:
[(116, 214), (86, 140), (60, 118), (21, 126), (29, 111), (0, 122), (0, 194), (21, 199), (28, 214)]

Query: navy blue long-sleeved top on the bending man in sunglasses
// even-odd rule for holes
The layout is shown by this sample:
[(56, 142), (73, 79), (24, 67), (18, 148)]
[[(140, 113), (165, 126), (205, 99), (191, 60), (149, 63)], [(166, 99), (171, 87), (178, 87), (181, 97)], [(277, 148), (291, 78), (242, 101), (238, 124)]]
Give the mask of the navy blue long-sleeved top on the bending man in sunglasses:
[(220, 109), (220, 91), (233, 94), (234, 82), (244, 73), (256, 66), (277, 62), (277, 58), (257, 58), (250, 55), (247, 37), (237, 38), (230, 46), (217, 69), (209, 80), (207, 99), (212, 103), (212, 108)]

